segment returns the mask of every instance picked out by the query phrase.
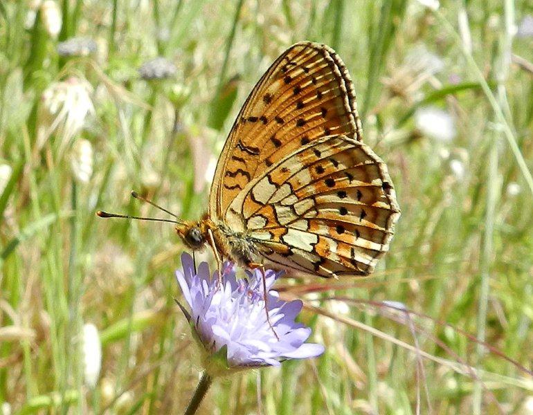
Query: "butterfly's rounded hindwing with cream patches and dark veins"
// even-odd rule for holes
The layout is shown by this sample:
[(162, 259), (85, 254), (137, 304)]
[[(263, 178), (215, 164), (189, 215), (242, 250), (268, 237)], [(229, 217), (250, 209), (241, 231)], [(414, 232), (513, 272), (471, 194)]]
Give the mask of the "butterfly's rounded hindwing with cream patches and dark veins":
[(327, 136), (250, 183), (226, 221), (244, 220), (266, 264), (334, 277), (371, 273), (398, 217), (385, 163), (363, 142)]

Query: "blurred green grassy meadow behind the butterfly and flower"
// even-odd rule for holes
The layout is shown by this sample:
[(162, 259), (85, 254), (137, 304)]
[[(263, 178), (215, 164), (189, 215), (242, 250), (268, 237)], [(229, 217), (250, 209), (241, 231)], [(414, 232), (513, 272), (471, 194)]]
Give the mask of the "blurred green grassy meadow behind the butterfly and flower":
[(201, 412), (533, 414), (533, 5), (438, 6), (1, 0), (0, 414), (183, 411), (184, 248), (95, 212), (161, 216), (137, 190), (197, 219), (240, 105), (304, 39), (345, 61), (402, 216), (372, 277), (280, 284), (324, 356), (217, 380)]

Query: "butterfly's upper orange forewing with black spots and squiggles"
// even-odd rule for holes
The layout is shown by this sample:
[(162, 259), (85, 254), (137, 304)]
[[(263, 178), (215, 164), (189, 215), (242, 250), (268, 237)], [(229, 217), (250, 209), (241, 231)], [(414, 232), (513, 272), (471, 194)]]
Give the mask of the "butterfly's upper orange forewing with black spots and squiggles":
[(361, 136), (352, 81), (334, 50), (291, 46), (246, 99), (219, 158), (209, 210), (224, 218), (233, 199), (265, 169), (329, 134)]

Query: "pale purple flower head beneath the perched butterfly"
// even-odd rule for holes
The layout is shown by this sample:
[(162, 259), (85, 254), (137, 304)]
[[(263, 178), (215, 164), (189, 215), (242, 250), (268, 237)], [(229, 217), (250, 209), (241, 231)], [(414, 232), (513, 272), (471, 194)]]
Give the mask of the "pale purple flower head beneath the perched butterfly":
[(183, 272), (177, 270), (176, 276), (190, 313), (180, 307), (208, 360), (217, 356), (222, 358), (224, 369), (242, 369), (279, 366), (281, 360), (313, 358), (324, 352), (321, 344), (305, 343), (311, 329), (294, 321), (302, 302), (285, 302), (277, 292), (270, 291), (281, 273), (265, 273), (270, 326), (260, 270), (246, 271), (246, 278), (236, 279), (235, 266), (225, 262), (219, 284), (217, 271), (210, 275), (206, 262), (195, 273), (192, 257), (184, 253), (181, 264)]

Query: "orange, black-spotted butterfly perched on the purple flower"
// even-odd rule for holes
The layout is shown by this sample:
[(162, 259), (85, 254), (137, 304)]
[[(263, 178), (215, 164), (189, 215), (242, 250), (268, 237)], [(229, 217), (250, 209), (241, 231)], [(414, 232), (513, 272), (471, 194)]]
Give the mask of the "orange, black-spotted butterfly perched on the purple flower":
[(192, 250), (217, 261), (337, 277), (368, 275), (400, 215), (385, 163), (361, 140), (345, 65), (300, 42), (253, 88), (226, 140), (208, 212), (177, 220)]

